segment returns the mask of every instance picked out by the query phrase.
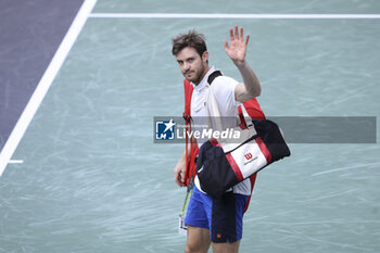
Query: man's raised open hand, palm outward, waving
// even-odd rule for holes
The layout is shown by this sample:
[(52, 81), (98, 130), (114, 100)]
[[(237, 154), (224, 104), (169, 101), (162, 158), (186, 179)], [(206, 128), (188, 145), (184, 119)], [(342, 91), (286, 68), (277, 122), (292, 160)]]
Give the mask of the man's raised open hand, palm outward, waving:
[(243, 40), (243, 28), (240, 28), (239, 34), (239, 27), (236, 25), (235, 30), (229, 29), (230, 45), (228, 45), (226, 40), (223, 40), (226, 53), (233, 61), (235, 64), (241, 64), (245, 61), (246, 45), (250, 40), (250, 36), (248, 35), (245, 40)]

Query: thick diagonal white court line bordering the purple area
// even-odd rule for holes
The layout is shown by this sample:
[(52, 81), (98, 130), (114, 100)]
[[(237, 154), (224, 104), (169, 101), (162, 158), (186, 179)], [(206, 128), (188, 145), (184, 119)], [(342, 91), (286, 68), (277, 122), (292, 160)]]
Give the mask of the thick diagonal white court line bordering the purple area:
[(10, 163), (15, 149), (17, 148), (21, 139), (26, 131), (26, 128), (29, 126), (33, 117), (35, 116), (39, 105), (41, 104), (46, 93), (48, 92), (52, 81), (54, 80), (58, 72), (60, 71), (64, 60), (66, 59), (96, 3), (97, 0), (84, 1), (48, 68), (43, 73), (42, 78), (38, 83), (36, 90), (30, 97), (27, 105), (24, 109), (24, 112), (18, 118), (17, 124), (13, 128), (5, 146), (0, 153), (0, 176), (4, 172), (7, 165)]

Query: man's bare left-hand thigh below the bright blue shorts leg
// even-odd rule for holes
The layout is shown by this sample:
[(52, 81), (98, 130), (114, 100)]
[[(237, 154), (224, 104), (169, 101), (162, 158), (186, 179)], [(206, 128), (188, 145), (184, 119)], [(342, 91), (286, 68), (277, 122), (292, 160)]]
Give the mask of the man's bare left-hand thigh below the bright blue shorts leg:
[(208, 229), (188, 226), (188, 238), (185, 252), (206, 253), (210, 244), (211, 240)]

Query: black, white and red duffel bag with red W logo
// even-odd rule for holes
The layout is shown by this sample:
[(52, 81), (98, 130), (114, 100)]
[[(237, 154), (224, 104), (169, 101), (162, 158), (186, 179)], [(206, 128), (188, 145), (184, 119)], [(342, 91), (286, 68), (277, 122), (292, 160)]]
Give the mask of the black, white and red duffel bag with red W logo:
[(229, 188), (269, 164), (290, 155), (278, 125), (269, 119), (252, 119), (242, 130), (248, 137), (240, 143), (204, 142), (197, 160), (197, 175), (203, 191), (220, 197)]

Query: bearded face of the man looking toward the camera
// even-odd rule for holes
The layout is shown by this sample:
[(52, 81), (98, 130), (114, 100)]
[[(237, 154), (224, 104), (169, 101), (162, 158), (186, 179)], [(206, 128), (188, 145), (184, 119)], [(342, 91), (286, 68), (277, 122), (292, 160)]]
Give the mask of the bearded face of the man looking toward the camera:
[(204, 52), (201, 58), (194, 48), (187, 47), (176, 58), (185, 78), (198, 85), (206, 74), (208, 53)]

